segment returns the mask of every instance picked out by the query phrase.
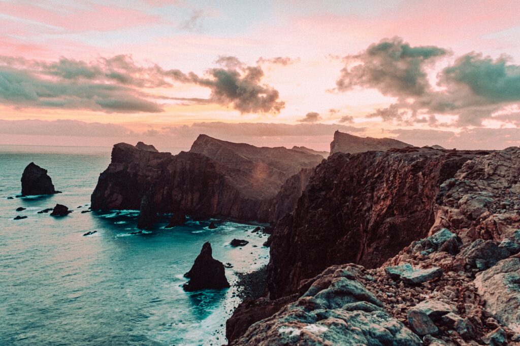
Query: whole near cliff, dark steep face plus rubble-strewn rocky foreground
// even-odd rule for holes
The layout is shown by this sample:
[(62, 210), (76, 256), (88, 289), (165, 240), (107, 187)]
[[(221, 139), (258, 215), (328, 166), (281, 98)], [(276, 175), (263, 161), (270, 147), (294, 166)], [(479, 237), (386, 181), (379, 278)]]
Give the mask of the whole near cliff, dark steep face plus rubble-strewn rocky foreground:
[[(494, 153), (416, 150), (334, 155), (317, 168), (294, 216), (286, 217), (275, 229), (271, 247), (277, 256), (282, 252), (278, 246), (292, 251), (283, 264), (271, 258), (269, 279), (270, 284), (273, 280), (285, 282), (292, 294), (239, 306), (233, 318), (244, 318), (229, 320), (231, 344), (520, 342), (520, 148)], [(353, 160), (359, 163), (355, 165)], [(365, 160), (372, 162), (373, 172), (362, 164)], [(346, 170), (347, 165), (366, 178), (360, 181)], [(361, 187), (359, 183), (363, 183)], [(348, 184), (358, 187), (346, 187)], [(320, 195), (326, 186), (329, 188)], [(339, 195), (345, 198), (338, 199)], [(324, 203), (333, 198), (339, 204), (335, 209)], [(402, 204), (405, 201), (410, 204)], [(401, 206), (410, 212), (403, 213)], [(304, 215), (308, 218), (300, 222)], [(318, 217), (325, 215), (338, 221), (320, 218), (325, 220), (320, 228)], [(346, 220), (347, 216), (352, 220)], [(304, 227), (313, 220), (315, 224)], [(356, 225), (358, 228), (347, 228)], [(284, 232), (283, 228), (294, 226), (291, 234)], [(331, 226), (343, 226), (343, 232)], [(331, 229), (336, 231), (328, 232)], [(354, 229), (357, 241), (345, 232)], [(378, 246), (370, 245), (367, 232), (379, 236)], [(285, 243), (276, 240), (280, 236), (287, 237)], [(412, 241), (381, 264), (403, 237)], [(324, 242), (330, 247), (334, 241), (339, 244), (331, 250), (321, 246)], [(330, 252), (352, 254), (338, 259), (344, 263), (361, 262), (375, 268), (332, 266), (315, 278), (294, 280), (316, 268), (307, 258), (338, 258)], [(305, 256), (300, 255), (303, 253)], [(314, 254), (319, 256), (313, 258)], [(292, 261), (294, 256), (297, 261)], [(277, 271), (287, 267), (284, 273), (290, 279), (284, 281)], [(275, 297), (287, 293), (278, 285), (270, 289)], [(273, 314), (273, 310), (279, 312)], [(255, 315), (264, 320), (255, 320)], [(258, 322), (245, 330), (240, 324), (244, 320)], [(393, 327), (388, 329), (390, 325)], [(398, 340), (397, 336), (407, 337)]]

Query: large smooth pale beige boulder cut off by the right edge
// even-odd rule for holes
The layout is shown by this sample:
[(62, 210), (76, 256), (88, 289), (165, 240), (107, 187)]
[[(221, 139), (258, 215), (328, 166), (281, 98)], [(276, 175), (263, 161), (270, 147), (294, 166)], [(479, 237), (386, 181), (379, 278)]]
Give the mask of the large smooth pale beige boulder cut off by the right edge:
[(511, 257), (477, 273), (477, 292), (486, 309), (503, 325), (520, 333), (520, 259)]

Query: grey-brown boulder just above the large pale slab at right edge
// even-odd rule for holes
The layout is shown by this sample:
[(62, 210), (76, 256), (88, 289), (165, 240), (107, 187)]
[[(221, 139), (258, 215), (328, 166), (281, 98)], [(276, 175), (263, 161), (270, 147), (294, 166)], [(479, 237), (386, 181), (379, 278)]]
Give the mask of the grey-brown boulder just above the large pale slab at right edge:
[(459, 255), (466, 263), (479, 270), (488, 269), (499, 260), (509, 257), (509, 251), (492, 240), (477, 239)]

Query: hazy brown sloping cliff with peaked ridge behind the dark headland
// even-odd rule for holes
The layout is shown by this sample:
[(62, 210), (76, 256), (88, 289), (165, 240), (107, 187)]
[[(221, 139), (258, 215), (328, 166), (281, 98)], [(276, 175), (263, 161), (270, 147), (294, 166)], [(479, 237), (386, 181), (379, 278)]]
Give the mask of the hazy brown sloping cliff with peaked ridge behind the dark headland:
[(275, 197), (289, 177), (303, 168), (314, 168), (323, 157), (284, 147), (255, 147), (199, 135), (190, 153), (205, 155), (229, 168), (227, 172), (244, 196)]

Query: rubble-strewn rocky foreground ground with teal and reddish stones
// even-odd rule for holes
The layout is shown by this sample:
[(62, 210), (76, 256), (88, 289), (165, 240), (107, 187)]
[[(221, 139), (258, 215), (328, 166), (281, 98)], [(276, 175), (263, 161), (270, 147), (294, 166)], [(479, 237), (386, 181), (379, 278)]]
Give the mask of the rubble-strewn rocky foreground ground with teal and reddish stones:
[(433, 209), (429, 236), (378, 268), (330, 266), (291, 296), (244, 302), (231, 344), (520, 345), (520, 148), (466, 161)]

